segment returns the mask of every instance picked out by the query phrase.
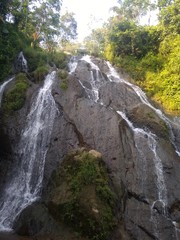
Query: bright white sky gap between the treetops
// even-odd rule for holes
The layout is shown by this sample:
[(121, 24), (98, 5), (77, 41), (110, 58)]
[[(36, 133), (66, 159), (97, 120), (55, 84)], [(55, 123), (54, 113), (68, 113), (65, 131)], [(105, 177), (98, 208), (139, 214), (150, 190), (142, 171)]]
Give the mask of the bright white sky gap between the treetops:
[(82, 41), (92, 29), (102, 26), (112, 14), (110, 8), (115, 5), (117, 0), (63, 0), (61, 14), (75, 13), (78, 41)]

